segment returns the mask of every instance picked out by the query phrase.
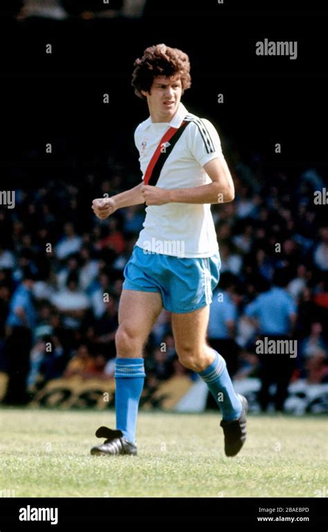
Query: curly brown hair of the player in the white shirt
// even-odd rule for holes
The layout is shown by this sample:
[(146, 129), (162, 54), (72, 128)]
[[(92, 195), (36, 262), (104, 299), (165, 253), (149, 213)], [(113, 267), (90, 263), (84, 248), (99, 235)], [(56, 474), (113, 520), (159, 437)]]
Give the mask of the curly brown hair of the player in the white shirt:
[(141, 91), (149, 92), (156, 76), (180, 76), (182, 94), (191, 85), (190, 62), (188, 55), (177, 48), (170, 48), (166, 44), (156, 44), (145, 49), (142, 58), (134, 62), (132, 86), (135, 94), (147, 99)]

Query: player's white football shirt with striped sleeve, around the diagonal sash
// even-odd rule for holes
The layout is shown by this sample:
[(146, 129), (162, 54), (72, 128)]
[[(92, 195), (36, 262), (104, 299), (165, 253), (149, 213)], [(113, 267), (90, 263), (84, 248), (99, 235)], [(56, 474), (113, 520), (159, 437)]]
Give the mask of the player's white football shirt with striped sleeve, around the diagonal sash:
[[(203, 166), (215, 157), (224, 157), (212, 123), (189, 113), (180, 103), (170, 122), (153, 123), (149, 117), (136, 128), (134, 141), (140, 153), (143, 178), (165, 132), (171, 127), (179, 128), (185, 117), (190, 123), (168, 155), (156, 183), (163, 189), (186, 189), (211, 183)], [(210, 204), (149, 205), (136, 246), (176, 257), (215, 255), (219, 246)]]

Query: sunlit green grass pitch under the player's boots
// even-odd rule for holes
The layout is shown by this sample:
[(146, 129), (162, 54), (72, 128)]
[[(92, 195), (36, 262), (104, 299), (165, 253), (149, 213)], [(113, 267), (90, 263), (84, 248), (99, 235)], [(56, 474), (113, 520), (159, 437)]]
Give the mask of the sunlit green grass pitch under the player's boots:
[[(327, 486), (327, 418), (248, 416), (226, 458), (219, 415), (143, 413), (138, 456), (91, 456), (113, 411), (0, 410), (0, 492), (15, 497), (316, 497)], [(101, 440), (102, 441), (102, 440)], [(327, 489), (327, 488), (326, 488)], [(1, 496), (1, 493), (0, 493)]]

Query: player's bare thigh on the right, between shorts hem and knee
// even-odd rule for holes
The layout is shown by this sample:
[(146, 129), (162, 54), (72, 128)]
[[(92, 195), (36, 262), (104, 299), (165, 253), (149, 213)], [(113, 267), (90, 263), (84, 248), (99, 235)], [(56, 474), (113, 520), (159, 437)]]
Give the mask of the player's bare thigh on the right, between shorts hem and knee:
[(176, 351), (199, 350), (206, 343), (210, 305), (186, 314), (172, 312), (172, 330)]

